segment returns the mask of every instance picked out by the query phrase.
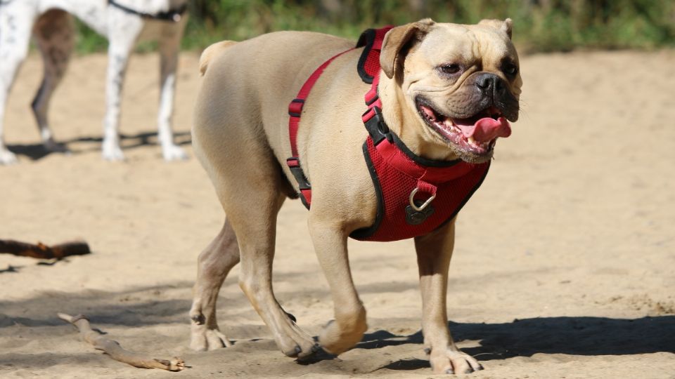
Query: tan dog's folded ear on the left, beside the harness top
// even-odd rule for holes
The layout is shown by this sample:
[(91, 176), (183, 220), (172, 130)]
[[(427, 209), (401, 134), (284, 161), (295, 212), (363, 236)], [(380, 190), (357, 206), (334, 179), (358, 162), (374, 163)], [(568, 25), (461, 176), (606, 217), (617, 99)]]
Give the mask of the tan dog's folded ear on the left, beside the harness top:
[(394, 27), (387, 32), (380, 52), (380, 67), (388, 78), (394, 77), (397, 68), (403, 64), (407, 51), (404, 47), (409, 48), (409, 43), (422, 41), (434, 24), (434, 20), (425, 18), (418, 22)]

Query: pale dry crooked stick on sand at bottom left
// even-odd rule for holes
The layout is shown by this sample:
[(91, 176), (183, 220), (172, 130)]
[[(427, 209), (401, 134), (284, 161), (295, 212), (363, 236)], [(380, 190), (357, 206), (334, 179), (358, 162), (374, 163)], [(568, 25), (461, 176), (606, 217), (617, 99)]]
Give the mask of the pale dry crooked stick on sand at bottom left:
[(181, 371), (185, 368), (185, 361), (177, 357), (174, 357), (174, 359), (156, 359), (143, 353), (124, 350), (117, 341), (106, 338), (101, 333), (94, 331), (89, 325), (89, 320), (82, 314), (70, 316), (69, 314), (58, 313), (58, 318), (73, 324), (82, 335), (82, 339), (94, 345), (94, 349), (103, 350), (105, 354), (110, 355), (115, 361), (140, 368), (162, 368), (162, 370), (169, 371)]

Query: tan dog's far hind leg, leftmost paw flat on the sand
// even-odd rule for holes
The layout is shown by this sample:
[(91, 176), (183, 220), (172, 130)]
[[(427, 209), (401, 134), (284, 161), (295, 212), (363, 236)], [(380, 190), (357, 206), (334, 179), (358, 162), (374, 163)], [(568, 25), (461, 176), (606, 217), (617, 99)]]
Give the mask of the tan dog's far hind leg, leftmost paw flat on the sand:
[(190, 310), (190, 347), (193, 350), (214, 350), (232, 345), (219, 331), (216, 302), (223, 281), (238, 262), (237, 237), (229, 220), (226, 220), (220, 233), (199, 255), (197, 282), (193, 288), (194, 300)]

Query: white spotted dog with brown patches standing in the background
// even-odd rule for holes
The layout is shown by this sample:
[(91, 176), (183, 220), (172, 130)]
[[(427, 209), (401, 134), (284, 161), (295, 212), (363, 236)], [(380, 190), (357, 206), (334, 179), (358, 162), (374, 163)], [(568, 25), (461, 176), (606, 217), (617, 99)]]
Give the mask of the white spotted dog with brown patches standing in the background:
[[(32, 102), (44, 146), (64, 151), (54, 142), (47, 120), (49, 100), (58, 86), (75, 42), (73, 15), (110, 41), (103, 120), (103, 158), (124, 159), (118, 124), (124, 71), (139, 37), (157, 39), (161, 55), (159, 140), (164, 159), (186, 159), (174, 143), (174, 107), (179, 44), (186, 25), (188, 0), (0, 0), (0, 164), (15, 163), (4, 144), (3, 121), (8, 93), (26, 58), (30, 38), (44, 59), (44, 79)], [(141, 33), (142, 32), (142, 33)]]

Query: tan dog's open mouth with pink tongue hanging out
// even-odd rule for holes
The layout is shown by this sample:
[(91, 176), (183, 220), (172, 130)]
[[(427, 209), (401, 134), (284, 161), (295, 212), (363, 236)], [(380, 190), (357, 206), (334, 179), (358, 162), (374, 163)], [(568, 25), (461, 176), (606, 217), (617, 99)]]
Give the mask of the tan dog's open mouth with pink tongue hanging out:
[(420, 117), (437, 133), (452, 142), (460, 152), (484, 156), (496, 139), (511, 135), (511, 127), (496, 107), (488, 107), (467, 119), (453, 119), (438, 112), (425, 100), (416, 100)]

